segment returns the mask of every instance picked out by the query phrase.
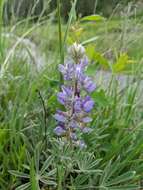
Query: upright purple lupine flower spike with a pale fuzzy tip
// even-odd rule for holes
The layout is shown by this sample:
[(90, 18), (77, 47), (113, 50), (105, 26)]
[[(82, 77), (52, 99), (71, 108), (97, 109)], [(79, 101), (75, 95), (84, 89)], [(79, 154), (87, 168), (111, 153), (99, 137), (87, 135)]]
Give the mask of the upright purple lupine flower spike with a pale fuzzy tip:
[(54, 118), (57, 127), (54, 132), (72, 144), (85, 147), (82, 140), (83, 133), (90, 133), (87, 127), (92, 121), (89, 113), (93, 109), (94, 101), (88, 95), (96, 88), (92, 79), (85, 74), (88, 58), (82, 45), (74, 43), (68, 49), (68, 58), (64, 65), (59, 65), (64, 85), (62, 92), (57, 94), (58, 101), (64, 105), (65, 110), (57, 110)]

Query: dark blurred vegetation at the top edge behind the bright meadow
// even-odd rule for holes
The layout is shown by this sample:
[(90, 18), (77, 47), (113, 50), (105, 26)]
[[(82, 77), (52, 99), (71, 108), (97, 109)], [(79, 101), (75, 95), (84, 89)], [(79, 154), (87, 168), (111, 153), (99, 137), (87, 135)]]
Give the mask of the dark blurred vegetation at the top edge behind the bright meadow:
[[(47, 14), (57, 8), (57, 0), (6, 0), (4, 2), (4, 20), (9, 21), (12, 15), (18, 18), (29, 16), (38, 16), (41, 13)], [(65, 20), (72, 6), (71, 0), (61, 0), (61, 15)], [(101, 13), (104, 16), (110, 16), (112, 11), (119, 5), (128, 3), (137, 3), (134, 0), (78, 0), (76, 4), (77, 15), (86, 16), (93, 13)], [(48, 5), (49, 4), (49, 5)]]

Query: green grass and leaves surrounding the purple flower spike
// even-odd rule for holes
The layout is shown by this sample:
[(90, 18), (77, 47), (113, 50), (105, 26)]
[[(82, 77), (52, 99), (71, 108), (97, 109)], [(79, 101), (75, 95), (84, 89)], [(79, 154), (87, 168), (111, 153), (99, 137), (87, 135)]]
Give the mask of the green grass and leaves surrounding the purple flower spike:
[[(142, 17), (126, 9), (123, 17), (98, 22), (77, 19), (75, 4), (67, 24), (60, 10), (58, 23), (55, 13), (5, 27), (0, 19), (1, 190), (142, 188)], [(77, 39), (91, 60), (88, 74), (95, 78), (102, 69), (111, 75), (106, 88), (97, 86), (92, 94), (93, 132), (83, 136), (83, 150), (53, 133), (60, 108), (57, 66)], [(123, 89), (119, 74), (127, 74)]]

